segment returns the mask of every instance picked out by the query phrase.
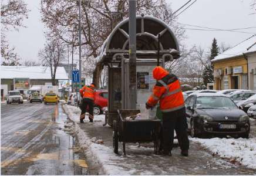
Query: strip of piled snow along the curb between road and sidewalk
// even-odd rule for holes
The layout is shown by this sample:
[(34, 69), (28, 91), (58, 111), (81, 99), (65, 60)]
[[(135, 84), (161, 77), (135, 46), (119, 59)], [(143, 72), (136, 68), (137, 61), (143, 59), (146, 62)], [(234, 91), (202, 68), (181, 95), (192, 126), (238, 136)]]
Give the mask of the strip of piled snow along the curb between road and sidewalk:
[[(114, 154), (113, 148), (103, 145), (103, 141), (101, 139), (97, 139), (95, 137), (89, 138), (86, 135), (86, 133), (76, 123), (79, 123), (80, 117), (80, 109), (78, 107), (65, 104), (63, 105), (63, 108), (68, 114), (69, 119), (75, 121), (73, 130), (77, 134), (79, 144), (85, 151), (86, 156), (92, 158), (92, 160), (102, 168), (103, 173), (100, 174), (131, 175), (136, 172), (136, 170), (132, 169), (135, 167), (133, 164), (129, 164), (130, 169), (126, 170), (127, 164), (124, 163), (125, 158)], [(105, 116), (95, 116), (95, 120), (103, 121), (105, 120)], [(85, 117), (85, 121), (89, 121), (87, 120), (87, 116)]]

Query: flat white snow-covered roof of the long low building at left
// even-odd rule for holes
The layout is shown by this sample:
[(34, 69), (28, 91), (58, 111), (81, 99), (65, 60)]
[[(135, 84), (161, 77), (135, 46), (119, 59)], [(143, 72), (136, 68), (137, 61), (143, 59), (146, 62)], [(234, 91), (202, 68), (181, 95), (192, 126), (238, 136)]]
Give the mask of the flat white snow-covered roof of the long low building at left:
[[(29, 79), (51, 79), (50, 68), (45, 66), (1, 66), (1, 79), (28, 77)], [(68, 79), (64, 67), (57, 67), (55, 79)]]

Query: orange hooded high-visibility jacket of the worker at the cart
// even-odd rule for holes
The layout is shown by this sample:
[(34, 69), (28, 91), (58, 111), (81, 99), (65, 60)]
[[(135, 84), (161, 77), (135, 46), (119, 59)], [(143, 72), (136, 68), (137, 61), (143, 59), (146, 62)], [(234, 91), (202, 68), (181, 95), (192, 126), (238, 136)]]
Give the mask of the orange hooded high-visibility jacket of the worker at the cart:
[(153, 77), (157, 83), (147, 104), (153, 107), (160, 100), (160, 110), (164, 113), (183, 108), (184, 99), (177, 76), (157, 66), (153, 70)]

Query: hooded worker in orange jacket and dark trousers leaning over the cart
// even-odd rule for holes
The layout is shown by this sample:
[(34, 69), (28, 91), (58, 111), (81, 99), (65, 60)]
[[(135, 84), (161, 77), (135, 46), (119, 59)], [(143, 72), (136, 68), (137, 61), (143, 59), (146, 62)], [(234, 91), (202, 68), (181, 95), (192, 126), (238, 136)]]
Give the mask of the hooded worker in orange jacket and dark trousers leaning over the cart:
[(160, 101), (160, 110), (163, 114), (163, 154), (171, 155), (175, 129), (181, 155), (188, 156), (187, 120), (180, 82), (177, 76), (169, 74), (160, 66), (154, 68), (153, 77), (157, 83), (153, 94), (147, 100), (146, 108), (150, 109)]

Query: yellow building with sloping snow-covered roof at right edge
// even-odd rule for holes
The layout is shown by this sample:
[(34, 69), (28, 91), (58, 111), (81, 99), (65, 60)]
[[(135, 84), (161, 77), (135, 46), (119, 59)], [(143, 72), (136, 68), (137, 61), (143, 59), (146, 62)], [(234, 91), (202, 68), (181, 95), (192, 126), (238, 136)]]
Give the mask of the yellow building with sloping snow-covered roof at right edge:
[(256, 89), (256, 35), (211, 60), (214, 89)]

